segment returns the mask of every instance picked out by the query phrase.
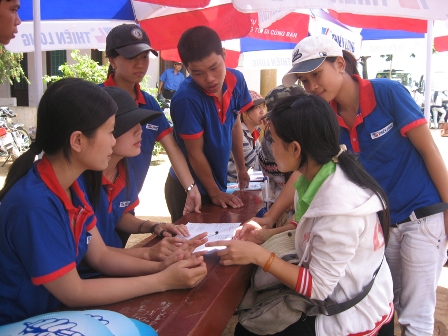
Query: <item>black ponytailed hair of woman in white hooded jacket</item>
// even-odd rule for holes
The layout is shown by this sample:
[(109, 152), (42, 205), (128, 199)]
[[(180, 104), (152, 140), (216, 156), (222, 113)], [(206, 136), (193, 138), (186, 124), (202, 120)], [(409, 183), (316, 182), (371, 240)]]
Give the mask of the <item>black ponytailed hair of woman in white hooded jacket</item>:
[[(336, 116), (330, 105), (319, 96), (303, 93), (283, 98), (269, 114), (269, 120), (283, 143), (299, 143), (302, 151), (298, 168), (305, 166), (310, 157), (320, 165), (326, 164), (340, 151)], [(383, 210), (378, 212), (378, 217), (387, 244), (390, 214), (386, 193), (353, 153), (342, 152), (338, 164), (350, 181), (372, 190), (382, 201)]]

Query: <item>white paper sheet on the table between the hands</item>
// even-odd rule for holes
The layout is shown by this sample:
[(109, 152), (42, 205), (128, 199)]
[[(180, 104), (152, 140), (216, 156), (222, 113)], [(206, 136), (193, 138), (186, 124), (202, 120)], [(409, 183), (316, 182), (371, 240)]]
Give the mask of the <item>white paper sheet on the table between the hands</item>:
[[(231, 240), (234, 236), (235, 230), (239, 227), (241, 223), (190, 223), (186, 224), (188, 232), (190, 232), (187, 239), (191, 239), (198, 234), (207, 232), (208, 242), (218, 241), (218, 240)], [(183, 236), (179, 236), (183, 237)], [(223, 250), (225, 246), (210, 246), (206, 247), (201, 245), (195, 249), (195, 252), (207, 251), (207, 253), (212, 253), (215, 250)]]

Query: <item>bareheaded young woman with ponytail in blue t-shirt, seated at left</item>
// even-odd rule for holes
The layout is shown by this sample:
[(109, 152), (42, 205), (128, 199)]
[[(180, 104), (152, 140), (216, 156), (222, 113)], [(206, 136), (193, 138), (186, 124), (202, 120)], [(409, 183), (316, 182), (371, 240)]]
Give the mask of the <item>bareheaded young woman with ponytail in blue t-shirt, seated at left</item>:
[[(106, 169), (116, 110), (103, 89), (81, 79), (62, 79), (42, 96), (36, 141), (13, 163), (0, 191), (0, 325), (61, 303), (97, 306), (193, 287), (205, 276), (202, 257), (191, 255), (204, 235), (164, 263), (117, 253), (101, 239), (78, 177)], [(76, 270), (82, 258), (121, 278), (82, 280)]]

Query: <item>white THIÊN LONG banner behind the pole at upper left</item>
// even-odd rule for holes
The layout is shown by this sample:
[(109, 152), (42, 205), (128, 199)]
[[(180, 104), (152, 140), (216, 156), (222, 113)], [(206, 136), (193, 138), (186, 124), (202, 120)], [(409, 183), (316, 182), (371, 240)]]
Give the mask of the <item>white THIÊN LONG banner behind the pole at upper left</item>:
[[(42, 21), (42, 51), (72, 49), (106, 49), (109, 31), (122, 23), (133, 21)], [(34, 51), (34, 31), (32, 22), (22, 22), (19, 32), (6, 49), (15, 53)]]

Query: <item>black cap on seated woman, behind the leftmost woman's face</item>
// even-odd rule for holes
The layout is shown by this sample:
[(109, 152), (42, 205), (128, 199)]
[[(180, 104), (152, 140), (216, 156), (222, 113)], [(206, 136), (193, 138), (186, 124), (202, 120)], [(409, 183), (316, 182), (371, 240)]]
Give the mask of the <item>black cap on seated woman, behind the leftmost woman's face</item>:
[(135, 125), (146, 124), (163, 114), (160, 111), (139, 108), (129, 92), (120, 89), (119, 87), (106, 86), (104, 87), (104, 90), (112, 97), (118, 106), (118, 111), (115, 115), (115, 138), (123, 135)]

